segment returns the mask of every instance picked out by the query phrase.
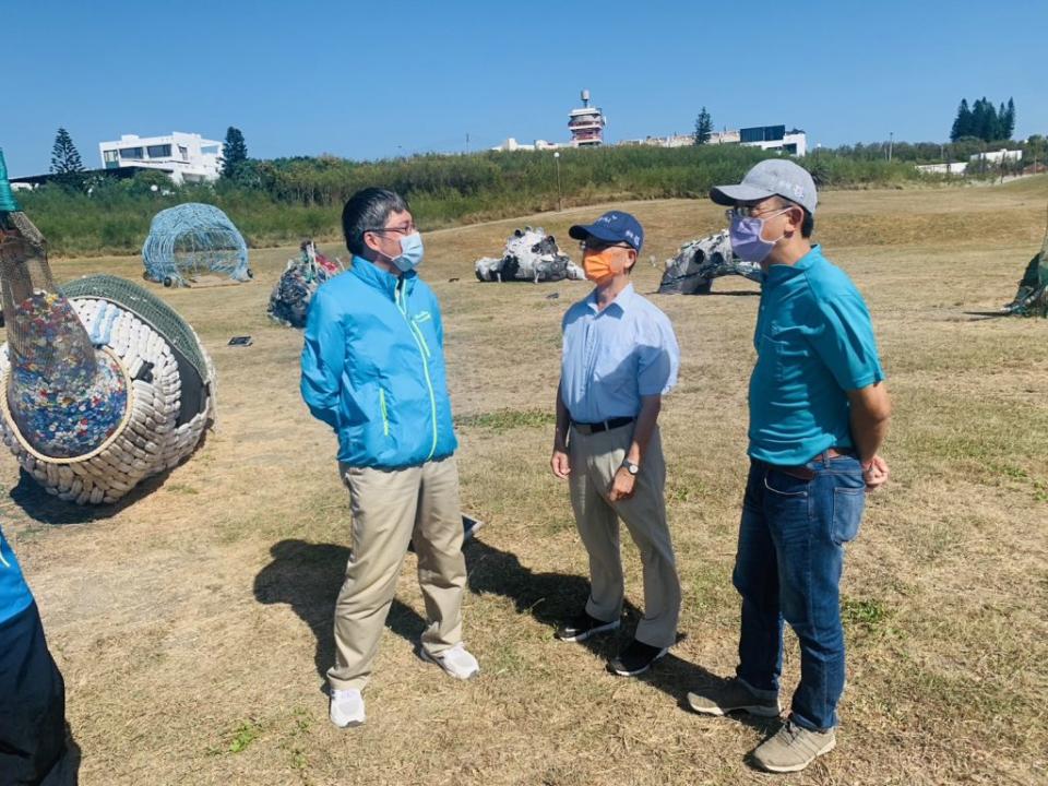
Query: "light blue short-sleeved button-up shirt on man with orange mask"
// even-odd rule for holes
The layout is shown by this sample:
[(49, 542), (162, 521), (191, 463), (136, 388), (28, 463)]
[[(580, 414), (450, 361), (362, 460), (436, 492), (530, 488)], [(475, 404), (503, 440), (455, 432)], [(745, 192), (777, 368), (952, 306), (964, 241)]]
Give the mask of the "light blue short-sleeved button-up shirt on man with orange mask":
[(677, 384), (674, 326), (632, 284), (603, 311), (594, 290), (568, 309), (562, 327), (560, 395), (575, 422), (635, 417), (641, 396)]

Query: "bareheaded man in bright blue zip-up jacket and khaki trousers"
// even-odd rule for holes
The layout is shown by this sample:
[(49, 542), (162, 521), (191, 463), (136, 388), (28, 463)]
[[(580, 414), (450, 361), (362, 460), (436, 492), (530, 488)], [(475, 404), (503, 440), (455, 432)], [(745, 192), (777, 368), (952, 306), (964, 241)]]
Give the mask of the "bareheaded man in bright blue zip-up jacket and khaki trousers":
[(342, 213), (353, 266), (313, 296), (301, 393), (338, 436), (353, 543), (335, 603), (331, 720), (365, 722), (361, 689), (409, 544), (429, 626), (419, 655), (450, 676), (479, 672), (462, 643), (466, 564), (458, 509), (458, 446), (444, 378), (440, 306), (415, 269), (422, 241), (407, 202), (369, 188)]

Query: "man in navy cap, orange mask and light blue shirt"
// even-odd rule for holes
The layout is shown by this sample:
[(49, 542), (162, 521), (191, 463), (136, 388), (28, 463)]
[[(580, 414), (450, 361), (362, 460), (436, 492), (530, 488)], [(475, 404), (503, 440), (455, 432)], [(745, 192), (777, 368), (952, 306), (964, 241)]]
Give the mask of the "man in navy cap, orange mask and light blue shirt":
[(622, 561), (619, 519), (641, 551), (644, 617), (608, 668), (639, 675), (677, 639), (680, 582), (666, 521), (666, 464), (657, 419), (677, 383), (672, 325), (630, 283), (644, 230), (629, 213), (605, 213), (569, 235), (582, 242), (596, 284), (564, 314), (553, 474), (568, 479), (579, 534), (590, 556), (590, 598), (556, 636), (584, 641), (619, 627)]

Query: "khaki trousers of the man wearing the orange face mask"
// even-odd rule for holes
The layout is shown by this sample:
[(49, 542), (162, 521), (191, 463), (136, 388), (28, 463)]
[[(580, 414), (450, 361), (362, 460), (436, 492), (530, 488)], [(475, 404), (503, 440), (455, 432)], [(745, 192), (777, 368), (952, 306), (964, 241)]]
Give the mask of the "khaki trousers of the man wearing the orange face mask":
[(652, 434), (633, 497), (608, 501), (608, 490), (633, 439), (629, 427), (583, 434), (571, 429), (571, 507), (579, 535), (590, 553), (590, 599), (586, 614), (617, 620), (622, 614), (624, 587), (619, 553), (619, 519), (641, 550), (644, 570), (644, 617), (636, 639), (668, 647), (677, 640), (680, 581), (666, 521), (666, 462), (658, 429)]

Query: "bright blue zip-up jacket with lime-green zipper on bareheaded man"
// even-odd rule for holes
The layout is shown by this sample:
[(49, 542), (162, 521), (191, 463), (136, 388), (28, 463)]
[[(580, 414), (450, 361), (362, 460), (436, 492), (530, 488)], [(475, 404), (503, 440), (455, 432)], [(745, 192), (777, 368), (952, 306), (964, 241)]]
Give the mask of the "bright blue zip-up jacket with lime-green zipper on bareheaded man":
[(302, 398), (338, 434), (338, 461), (398, 469), (458, 446), (432, 289), (355, 257), (313, 295), (302, 346)]

